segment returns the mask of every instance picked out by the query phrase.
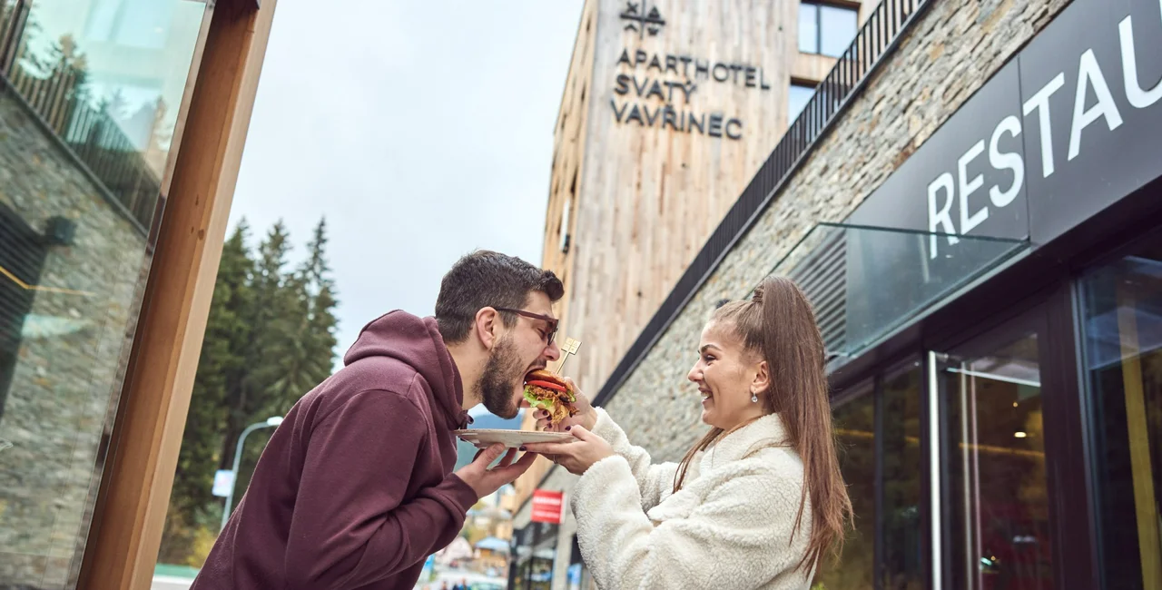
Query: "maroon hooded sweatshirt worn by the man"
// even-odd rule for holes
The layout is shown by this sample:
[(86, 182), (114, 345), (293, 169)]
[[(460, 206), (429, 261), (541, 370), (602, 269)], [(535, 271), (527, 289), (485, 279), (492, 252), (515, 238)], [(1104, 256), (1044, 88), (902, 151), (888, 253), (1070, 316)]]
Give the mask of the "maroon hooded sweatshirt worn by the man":
[(192, 590), (410, 590), (460, 532), (468, 415), (436, 321), (387, 314), (343, 360), (274, 431)]

